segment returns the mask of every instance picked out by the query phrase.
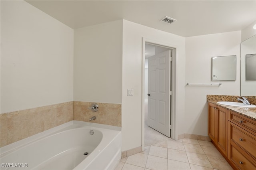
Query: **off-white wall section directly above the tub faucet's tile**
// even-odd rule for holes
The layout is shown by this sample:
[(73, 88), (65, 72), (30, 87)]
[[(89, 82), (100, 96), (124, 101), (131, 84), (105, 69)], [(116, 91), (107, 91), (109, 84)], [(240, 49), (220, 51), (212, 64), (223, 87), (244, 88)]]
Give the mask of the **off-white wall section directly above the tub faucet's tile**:
[(122, 103), (122, 20), (74, 30), (74, 101)]

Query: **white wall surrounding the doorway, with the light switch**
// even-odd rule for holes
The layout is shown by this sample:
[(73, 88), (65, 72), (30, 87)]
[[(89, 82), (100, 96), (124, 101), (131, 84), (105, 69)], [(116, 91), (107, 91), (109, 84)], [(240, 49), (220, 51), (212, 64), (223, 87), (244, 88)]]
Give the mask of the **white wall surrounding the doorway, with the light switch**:
[[(176, 138), (184, 133), (185, 38), (123, 20), (122, 150), (142, 145), (142, 38), (177, 48)], [(134, 95), (127, 96), (127, 89)]]

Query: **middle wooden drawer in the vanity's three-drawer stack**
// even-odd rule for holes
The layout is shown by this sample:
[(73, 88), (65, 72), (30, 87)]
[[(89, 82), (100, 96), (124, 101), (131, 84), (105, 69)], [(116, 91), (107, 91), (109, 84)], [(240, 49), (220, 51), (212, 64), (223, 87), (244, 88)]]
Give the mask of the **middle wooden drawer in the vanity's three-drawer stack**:
[(256, 136), (230, 123), (230, 140), (234, 141), (252, 157), (256, 158)]

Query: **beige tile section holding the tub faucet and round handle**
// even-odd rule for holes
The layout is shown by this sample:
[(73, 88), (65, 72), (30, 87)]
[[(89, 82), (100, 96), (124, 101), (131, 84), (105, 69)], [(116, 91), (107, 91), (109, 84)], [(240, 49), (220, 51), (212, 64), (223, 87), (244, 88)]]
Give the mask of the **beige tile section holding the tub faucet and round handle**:
[(89, 119), (96, 117), (92, 123), (121, 127), (121, 104), (97, 103), (98, 111), (94, 112), (91, 107), (93, 102), (74, 101), (74, 121), (90, 122)]

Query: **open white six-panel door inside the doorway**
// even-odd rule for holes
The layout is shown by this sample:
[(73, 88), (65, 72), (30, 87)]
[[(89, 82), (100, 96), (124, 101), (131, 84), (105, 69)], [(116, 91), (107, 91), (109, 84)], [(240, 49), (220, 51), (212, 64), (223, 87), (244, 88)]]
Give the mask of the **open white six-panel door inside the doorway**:
[(148, 58), (148, 126), (170, 137), (170, 54)]

